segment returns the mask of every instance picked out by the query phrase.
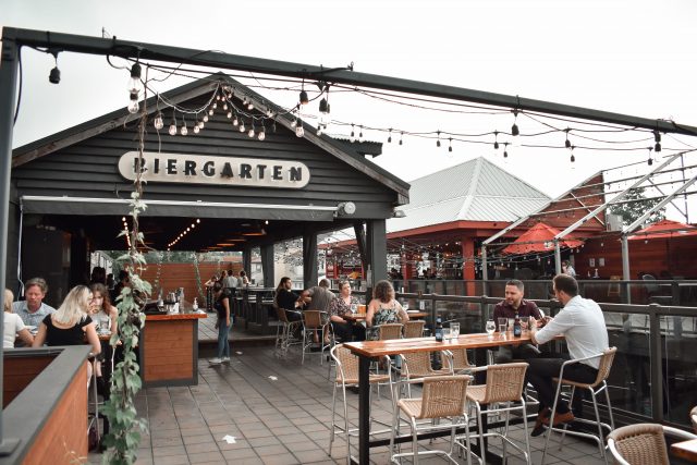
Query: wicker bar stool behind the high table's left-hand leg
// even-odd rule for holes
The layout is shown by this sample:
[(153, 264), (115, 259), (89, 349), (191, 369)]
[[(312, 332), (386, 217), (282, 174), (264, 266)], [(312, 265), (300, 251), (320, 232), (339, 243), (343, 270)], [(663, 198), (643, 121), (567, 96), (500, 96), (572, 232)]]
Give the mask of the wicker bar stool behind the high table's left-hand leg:
[[(351, 436), (356, 436), (358, 429), (357, 428), (348, 428), (348, 406), (346, 404), (346, 387), (357, 387), (358, 386), (358, 357), (354, 355), (348, 348), (344, 347), (343, 344), (338, 344), (333, 346), (329, 354), (334, 360), (334, 365), (337, 366), (337, 378), (334, 379), (334, 389), (332, 393), (331, 400), (331, 431), (329, 436), (329, 456), (331, 456), (331, 448), (334, 442), (334, 437), (337, 435), (346, 435), (346, 458), (347, 462), (351, 463), (351, 444), (350, 438)], [(388, 363), (388, 372), (384, 375), (375, 375), (370, 374), (370, 387), (380, 386), (380, 383), (388, 383), (390, 387), (390, 396), (392, 402), (392, 409), (394, 409), (394, 390), (392, 389), (392, 371), (390, 370), (390, 363), (387, 355), (384, 356)], [(341, 393), (343, 395), (344, 402), (344, 425), (338, 425), (335, 421), (335, 412), (337, 412), (337, 390), (341, 388)], [(380, 396), (380, 391), (378, 390), (378, 399)], [(370, 399), (372, 399), (372, 389), (370, 389)], [(380, 423), (384, 426), (390, 427), (392, 429), (392, 425), (387, 425), (381, 421), (378, 421), (370, 416), (370, 425), (372, 421)], [(372, 428), (371, 428), (372, 429)], [(371, 435), (387, 432), (388, 429), (380, 431), (371, 431)]]

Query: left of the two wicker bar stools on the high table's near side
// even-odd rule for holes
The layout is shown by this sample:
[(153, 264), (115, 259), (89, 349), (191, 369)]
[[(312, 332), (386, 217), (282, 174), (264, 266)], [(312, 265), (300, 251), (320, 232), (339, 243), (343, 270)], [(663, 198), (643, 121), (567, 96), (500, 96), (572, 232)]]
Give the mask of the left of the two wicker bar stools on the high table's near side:
[[(392, 429), (390, 437), (391, 462), (398, 458), (412, 456), (414, 464), (418, 464), (419, 455), (445, 455), (452, 463), (457, 463), (453, 458), (453, 451), (456, 444), (455, 431), (457, 427), (467, 427), (469, 418), (465, 411), (467, 396), (467, 384), (472, 380), (467, 375), (438, 376), (432, 378), (415, 379), (409, 382), (423, 382), (424, 389), (420, 399), (401, 399), (394, 409), (394, 425), (400, 424), (400, 412), (408, 417), (412, 430), (412, 453), (392, 453), (394, 451), (395, 429)], [(430, 419), (427, 424), (417, 424), (417, 419)], [(439, 420), (450, 419), (449, 423), (441, 424)], [(424, 431), (450, 430), (450, 451), (418, 451), (418, 433)], [(465, 440), (467, 449), (467, 464), (472, 463), (469, 456), (469, 429), (465, 428)], [(461, 445), (461, 444), (458, 444)]]

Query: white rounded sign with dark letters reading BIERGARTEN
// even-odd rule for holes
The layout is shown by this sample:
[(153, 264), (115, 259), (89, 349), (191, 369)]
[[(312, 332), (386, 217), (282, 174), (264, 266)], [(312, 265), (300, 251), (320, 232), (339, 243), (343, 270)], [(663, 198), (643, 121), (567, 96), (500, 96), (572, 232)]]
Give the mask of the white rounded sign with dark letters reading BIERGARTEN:
[(299, 161), (188, 154), (129, 151), (119, 159), (119, 172), (134, 181), (140, 170), (145, 182), (213, 184), (244, 187), (302, 188), (309, 169)]

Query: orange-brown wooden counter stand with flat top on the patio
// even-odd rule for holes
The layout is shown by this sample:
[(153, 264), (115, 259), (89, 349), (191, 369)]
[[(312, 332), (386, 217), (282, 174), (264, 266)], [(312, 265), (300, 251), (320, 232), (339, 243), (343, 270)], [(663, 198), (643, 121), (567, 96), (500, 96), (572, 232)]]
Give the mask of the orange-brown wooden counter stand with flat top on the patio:
[(198, 384), (196, 313), (147, 315), (140, 334), (140, 378), (145, 388)]

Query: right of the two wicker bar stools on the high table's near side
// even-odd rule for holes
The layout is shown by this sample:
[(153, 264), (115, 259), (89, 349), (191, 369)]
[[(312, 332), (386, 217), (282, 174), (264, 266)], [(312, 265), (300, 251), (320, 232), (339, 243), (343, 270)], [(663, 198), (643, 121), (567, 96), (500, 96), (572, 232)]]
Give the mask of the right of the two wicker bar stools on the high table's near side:
[[(467, 400), (475, 404), (477, 409), (477, 425), (479, 427), (479, 439), (485, 437), (496, 436), (503, 440), (503, 462), (505, 463), (506, 444), (510, 444), (515, 450), (521, 452), (525, 456), (525, 461), (531, 464), (530, 455), (530, 439), (527, 432), (527, 411), (525, 404), (525, 396), (523, 395), (523, 388), (525, 387), (525, 371), (527, 371), (528, 364), (515, 363), (515, 364), (501, 364), (489, 365), (480, 368), (473, 368), (472, 371), (487, 371), (487, 381), (485, 384), (470, 386), (467, 390)], [(519, 403), (514, 405), (513, 403)], [(500, 406), (504, 404), (504, 406)], [(482, 409), (481, 406), (486, 405), (487, 408)], [(499, 405), (499, 406), (496, 406)], [(519, 411), (523, 417), (523, 427), (525, 436), (525, 450), (518, 446), (512, 441), (509, 436), (509, 419), (511, 412)], [(503, 435), (498, 431), (484, 432), (482, 428), (482, 415), (490, 413), (505, 413), (505, 428)], [(462, 443), (458, 442), (462, 446)], [(481, 462), (487, 463), (486, 448), (481, 449)], [(467, 445), (467, 450), (469, 446)]]

